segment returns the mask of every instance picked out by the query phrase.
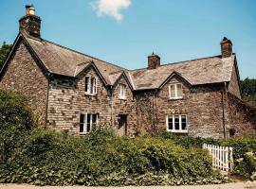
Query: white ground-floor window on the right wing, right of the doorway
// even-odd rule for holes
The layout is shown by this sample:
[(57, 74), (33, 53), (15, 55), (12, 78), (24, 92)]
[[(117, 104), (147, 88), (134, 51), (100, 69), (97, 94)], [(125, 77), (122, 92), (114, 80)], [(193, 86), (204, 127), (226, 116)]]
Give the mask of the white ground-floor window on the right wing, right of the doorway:
[(172, 114), (167, 115), (167, 131), (188, 132), (187, 115)]

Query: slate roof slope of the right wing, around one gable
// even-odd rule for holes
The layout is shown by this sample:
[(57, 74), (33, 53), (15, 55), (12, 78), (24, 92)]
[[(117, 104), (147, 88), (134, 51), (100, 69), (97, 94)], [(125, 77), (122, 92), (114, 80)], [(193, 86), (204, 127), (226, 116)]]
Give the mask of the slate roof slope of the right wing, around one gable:
[(230, 81), (235, 55), (222, 59), (220, 56), (188, 60), (161, 65), (156, 69), (131, 71), (137, 90), (155, 89), (177, 72), (192, 85)]

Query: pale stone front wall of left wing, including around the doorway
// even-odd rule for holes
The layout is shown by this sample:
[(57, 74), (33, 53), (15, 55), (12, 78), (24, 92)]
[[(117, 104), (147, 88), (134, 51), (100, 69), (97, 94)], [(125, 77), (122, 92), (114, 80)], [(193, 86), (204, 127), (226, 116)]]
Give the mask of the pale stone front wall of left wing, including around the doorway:
[[(97, 78), (96, 95), (85, 94), (85, 76)], [(124, 79), (120, 79), (119, 82), (126, 83)], [(104, 86), (101, 77), (93, 67), (88, 69), (78, 80), (54, 78), (51, 80), (49, 88), (47, 126), (79, 134), (80, 114), (98, 113), (101, 125), (113, 125), (114, 129), (118, 129), (119, 114), (127, 114), (128, 131), (132, 132), (136, 121), (136, 114), (132, 108), (132, 91), (127, 86), (127, 99), (119, 100), (119, 85), (117, 85), (113, 88), (112, 102), (110, 90)]]

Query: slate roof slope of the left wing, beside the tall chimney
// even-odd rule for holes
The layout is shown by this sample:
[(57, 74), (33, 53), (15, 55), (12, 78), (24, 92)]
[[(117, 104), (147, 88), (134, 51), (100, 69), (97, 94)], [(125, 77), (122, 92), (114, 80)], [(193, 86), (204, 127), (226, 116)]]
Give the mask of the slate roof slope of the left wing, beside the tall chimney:
[(27, 43), (29, 43), (39, 59), (43, 61), (47, 70), (52, 74), (76, 77), (86, 65), (93, 61), (101, 72), (101, 76), (110, 84), (109, 75), (113, 72), (124, 70), (124, 68), (112, 63), (96, 59), (56, 43), (43, 39), (37, 40), (27, 36), (23, 37), (25, 37)]

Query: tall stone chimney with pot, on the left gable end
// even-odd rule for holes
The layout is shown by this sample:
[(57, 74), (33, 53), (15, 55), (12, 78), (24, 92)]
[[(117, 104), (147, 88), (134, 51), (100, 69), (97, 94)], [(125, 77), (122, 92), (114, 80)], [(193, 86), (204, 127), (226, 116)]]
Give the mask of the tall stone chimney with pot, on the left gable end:
[(35, 38), (40, 38), (41, 19), (35, 15), (33, 5), (26, 6), (26, 15), (20, 20), (20, 32)]

